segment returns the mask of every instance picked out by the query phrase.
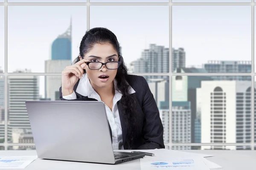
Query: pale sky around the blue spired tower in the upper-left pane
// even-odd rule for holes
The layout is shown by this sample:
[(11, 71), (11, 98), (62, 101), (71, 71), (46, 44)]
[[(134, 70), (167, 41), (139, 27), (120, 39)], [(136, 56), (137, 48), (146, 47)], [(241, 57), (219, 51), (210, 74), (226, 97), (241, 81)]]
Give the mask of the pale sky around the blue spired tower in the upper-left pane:
[[(67, 30), (71, 17), (73, 60), (87, 30), (86, 6), (8, 6), (8, 72), (17, 68), (44, 72), (45, 60), (51, 59), (52, 42)], [(17, 56), (22, 57), (20, 62), (14, 62)], [(35, 57), (37, 62), (31, 65)]]

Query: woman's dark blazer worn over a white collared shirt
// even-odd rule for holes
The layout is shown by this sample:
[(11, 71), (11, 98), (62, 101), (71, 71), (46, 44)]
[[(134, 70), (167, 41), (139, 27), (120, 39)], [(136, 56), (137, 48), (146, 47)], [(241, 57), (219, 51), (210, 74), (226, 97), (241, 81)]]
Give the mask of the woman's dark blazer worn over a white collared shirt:
[[(74, 91), (76, 93), (78, 101), (97, 101), (96, 99), (88, 98), (87, 96), (82, 96), (76, 92), (79, 81), (74, 86)], [(129, 148), (126, 143), (127, 125), (123, 119), (122, 106), (117, 102), (117, 108), (119, 112), (120, 122), (122, 126), (122, 137), (124, 149), (160, 149), (165, 148), (163, 142), (163, 125), (160, 119), (159, 110), (157, 104), (154, 100), (153, 94), (151, 93), (148, 83), (142, 76), (128, 75), (128, 83), (134, 89), (135, 93), (133, 95), (136, 100), (137, 115), (136, 119), (136, 130), (134, 130), (134, 142)], [(62, 98), (61, 87), (59, 89), (60, 99)], [(111, 129), (111, 127), (109, 126)], [(110, 130), (110, 135), (112, 139), (112, 132)]]

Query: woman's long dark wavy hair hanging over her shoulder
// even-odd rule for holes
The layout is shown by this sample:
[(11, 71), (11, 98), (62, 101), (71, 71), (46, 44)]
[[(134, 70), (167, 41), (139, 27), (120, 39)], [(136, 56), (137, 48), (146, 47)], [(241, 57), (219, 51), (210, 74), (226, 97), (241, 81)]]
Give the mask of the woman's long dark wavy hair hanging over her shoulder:
[[(81, 40), (80, 47), (79, 47), (81, 58), (84, 58), (84, 54), (89, 52), (93, 48), (93, 45), (95, 45), (96, 43), (112, 44), (113, 48), (116, 50), (118, 55), (120, 57), (122, 57), (120, 55), (120, 46), (119, 46), (119, 42), (116, 38), (116, 35), (113, 34), (113, 32), (111, 32), (107, 28), (99, 27), (99, 28), (92, 28), (92, 29), (86, 31), (84, 37)], [(77, 57), (73, 61), (73, 64), (75, 64), (76, 62), (79, 62), (79, 61), (80, 61), (80, 59), (79, 59), (79, 57)], [(119, 68), (117, 69), (117, 73), (116, 73), (116, 77), (115, 77), (116, 82), (117, 82), (117, 88), (118, 88), (116, 90), (118, 90), (122, 94), (120, 104), (122, 105), (122, 111), (124, 112), (123, 117), (125, 120), (125, 124), (128, 127), (126, 141), (123, 141), (123, 144), (125, 144), (125, 142), (127, 142), (128, 149), (131, 149), (131, 145), (134, 141), (134, 130), (135, 130), (133, 128), (133, 125), (136, 121), (134, 119), (135, 100), (133, 99), (133, 97), (131, 95), (129, 95), (129, 89), (130, 89), (129, 86), (130, 85), (128, 84), (129, 81), (128, 81), (128, 73), (127, 72), (128, 72), (128, 69), (125, 66), (124, 59), (122, 58), (122, 63), (119, 66)], [(85, 73), (85, 70), (84, 70), (84, 73)]]

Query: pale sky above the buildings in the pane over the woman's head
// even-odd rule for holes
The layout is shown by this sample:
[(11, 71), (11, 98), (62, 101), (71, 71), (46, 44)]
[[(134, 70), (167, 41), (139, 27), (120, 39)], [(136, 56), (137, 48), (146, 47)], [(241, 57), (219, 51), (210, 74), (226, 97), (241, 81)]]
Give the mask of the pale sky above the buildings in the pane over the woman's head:
[(116, 35), (127, 65), (150, 43), (169, 48), (169, 6), (90, 6), (90, 28), (94, 27)]

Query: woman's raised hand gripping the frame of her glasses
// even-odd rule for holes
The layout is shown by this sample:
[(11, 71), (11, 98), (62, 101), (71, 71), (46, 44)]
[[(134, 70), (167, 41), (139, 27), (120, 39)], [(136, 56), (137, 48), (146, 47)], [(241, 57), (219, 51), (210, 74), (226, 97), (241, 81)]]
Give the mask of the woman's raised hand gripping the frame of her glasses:
[(78, 79), (82, 77), (84, 74), (84, 67), (88, 62), (87, 59), (81, 59), (74, 65), (67, 66), (61, 73), (61, 90), (62, 95), (67, 96), (73, 93), (73, 88), (78, 81)]

